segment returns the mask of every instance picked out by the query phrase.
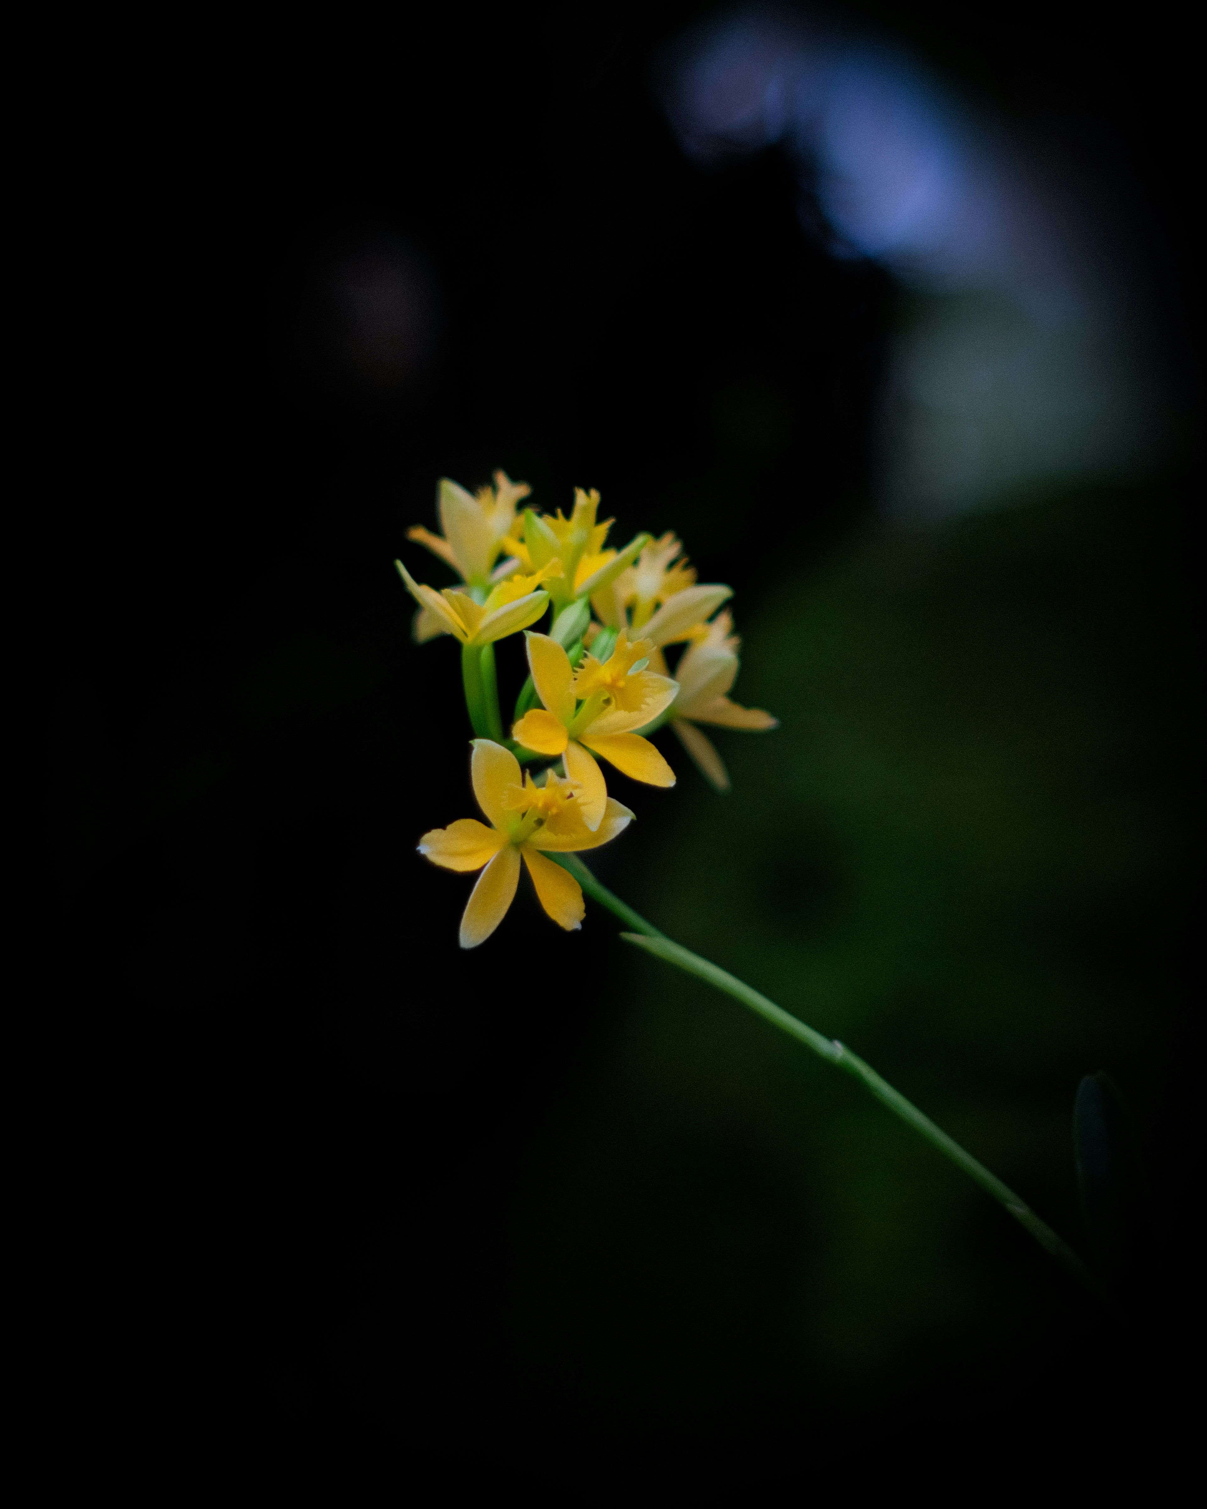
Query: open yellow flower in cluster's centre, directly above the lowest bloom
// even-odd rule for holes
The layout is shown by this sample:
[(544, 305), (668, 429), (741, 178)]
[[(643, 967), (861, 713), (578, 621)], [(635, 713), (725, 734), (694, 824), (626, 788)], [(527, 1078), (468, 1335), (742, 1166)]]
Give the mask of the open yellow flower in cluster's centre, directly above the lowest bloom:
[(649, 786), (673, 786), (674, 771), (649, 739), (634, 729), (652, 723), (679, 690), (677, 682), (646, 670), (649, 640), (628, 643), (620, 631), (608, 661), (588, 655), (575, 673), (566, 650), (548, 634), (528, 634), (533, 685), (545, 703), (525, 714), (513, 736), (539, 754), (561, 754), (566, 774), (579, 783), (582, 821), (594, 830), (604, 821), (608, 788), (591, 753)]

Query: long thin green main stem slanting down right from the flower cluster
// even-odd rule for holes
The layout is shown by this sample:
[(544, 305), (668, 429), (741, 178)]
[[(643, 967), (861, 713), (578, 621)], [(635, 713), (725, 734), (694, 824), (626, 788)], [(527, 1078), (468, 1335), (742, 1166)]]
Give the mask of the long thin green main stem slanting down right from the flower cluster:
[(1086, 1268), (1086, 1265), (1077, 1257), (1073, 1248), (1064, 1242), (1047, 1222), (1041, 1221), (1040, 1216), (1009, 1188), (1003, 1185), (996, 1174), (991, 1174), (984, 1163), (978, 1162), (972, 1153), (966, 1151), (954, 1138), (949, 1138), (941, 1127), (937, 1127), (929, 1117), (923, 1115), (917, 1106), (908, 1102), (899, 1091), (893, 1089), (887, 1080), (881, 1079), (880, 1074), (863, 1059), (852, 1053), (849, 1047), (839, 1043), (836, 1038), (827, 1038), (821, 1032), (815, 1032), (813, 1028), (806, 1026), (804, 1022), (794, 1017), (783, 1007), (777, 1007), (774, 1000), (768, 1000), (766, 996), (759, 994), (757, 990), (751, 990), (744, 981), (730, 975), (724, 969), (718, 969), (711, 964), (706, 958), (700, 958), (699, 954), (693, 954), (691, 949), (682, 948), (679, 943), (673, 943), (665, 934), (659, 933), (658, 928), (650, 927), (644, 917), (638, 916), (632, 907), (625, 905), (619, 896), (614, 896), (607, 886), (600, 886), (594, 875), (587, 869), (582, 860), (576, 854), (549, 854), (549, 859), (557, 860), (564, 869), (567, 869), (575, 880), (582, 886), (582, 890), (600, 907), (607, 907), (614, 916), (620, 917), (622, 922), (628, 922), (632, 933), (622, 933), (620, 937), (626, 943), (634, 943), (637, 948), (644, 949), (647, 954), (653, 954), (656, 958), (664, 960), (667, 964), (674, 964), (676, 969), (685, 970), (688, 975), (696, 975), (700, 979), (708, 981), (717, 990), (724, 991), (727, 996), (733, 996), (735, 1000), (741, 1000), (744, 1007), (756, 1011), (763, 1020), (777, 1026), (782, 1032), (803, 1043), (806, 1047), (812, 1049), (819, 1058), (824, 1058), (827, 1064), (833, 1064), (836, 1068), (845, 1070), (854, 1079), (857, 1079), (865, 1089), (871, 1091), (881, 1105), (887, 1106), (895, 1115), (901, 1117), (907, 1126), (911, 1126), (914, 1132), (920, 1133), (931, 1147), (949, 1157), (957, 1168), (961, 1168), (975, 1183), (978, 1183), (987, 1195), (991, 1195), (1024, 1231), (1029, 1231), (1032, 1237), (1040, 1243), (1040, 1246), (1055, 1257), (1059, 1263), (1068, 1269), (1068, 1272), (1086, 1289), (1095, 1293), (1100, 1299), (1106, 1299), (1106, 1292), (1094, 1274)]

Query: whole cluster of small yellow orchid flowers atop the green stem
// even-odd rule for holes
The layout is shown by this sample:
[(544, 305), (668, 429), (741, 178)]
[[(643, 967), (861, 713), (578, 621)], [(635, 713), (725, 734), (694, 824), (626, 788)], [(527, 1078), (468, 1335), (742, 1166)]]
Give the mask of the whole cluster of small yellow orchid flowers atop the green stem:
[[(721, 756), (700, 723), (774, 729), (775, 718), (730, 702), (739, 640), (720, 582), (699, 584), (673, 534), (637, 534), (607, 546), (613, 521), (596, 522), (599, 493), (575, 490), (570, 518), (519, 510), (527, 483), (495, 472), (477, 495), (444, 478), (441, 534), (407, 537), (451, 566), (460, 581), (438, 592), (395, 561), (419, 611), (419, 643), (451, 634), (477, 738), (474, 795), (490, 827), (462, 818), (433, 828), (419, 853), (454, 871), (481, 871), (462, 917), (462, 948), (502, 922), (519, 884), (521, 856), (545, 911), (566, 930), (582, 922), (582, 890), (546, 854), (572, 854), (614, 839), (632, 812), (608, 795), (599, 761), (632, 780), (673, 786), (674, 771), (649, 735), (668, 724), (702, 774), (729, 789)], [(552, 611), (548, 634), (531, 626)], [(525, 634), (530, 678), (502, 733), (495, 641)], [(665, 649), (682, 644), (674, 670)], [(521, 762), (546, 762), (534, 780)], [(558, 768), (560, 767), (560, 768)]]

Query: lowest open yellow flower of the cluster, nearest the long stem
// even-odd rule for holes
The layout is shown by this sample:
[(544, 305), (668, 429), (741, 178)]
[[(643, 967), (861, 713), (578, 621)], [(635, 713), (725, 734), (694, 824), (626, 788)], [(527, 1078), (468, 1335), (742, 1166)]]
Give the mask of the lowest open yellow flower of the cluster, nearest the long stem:
[[(552, 773), (545, 786), (531, 774), (521, 780), (516, 756), (490, 739), (474, 739), (474, 795), (490, 819), (462, 818), (419, 839), (419, 853), (445, 869), (481, 869), (462, 917), (462, 948), (477, 948), (507, 914), (519, 884), (519, 860), (528, 866), (537, 899), (567, 933), (582, 925), (582, 887), (546, 853), (573, 854), (614, 839), (632, 821), (628, 807), (608, 798), (594, 830), (579, 812), (575, 783)], [(483, 868), (484, 866), (484, 868)]]

